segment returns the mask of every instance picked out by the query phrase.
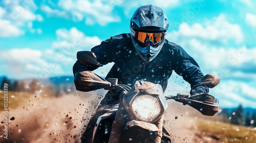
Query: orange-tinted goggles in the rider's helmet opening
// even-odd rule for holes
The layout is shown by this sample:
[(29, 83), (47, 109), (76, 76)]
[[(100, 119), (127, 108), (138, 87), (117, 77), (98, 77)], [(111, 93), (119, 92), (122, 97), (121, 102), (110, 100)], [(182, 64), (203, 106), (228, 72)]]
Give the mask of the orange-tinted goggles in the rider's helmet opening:
[(142, 43), (146, 43), (148, 40), (151, 40), (154, 44), (162, 41), (166, 35), (166, 32), (161, 33), (147, 33), (136, 31), (136, 38)]

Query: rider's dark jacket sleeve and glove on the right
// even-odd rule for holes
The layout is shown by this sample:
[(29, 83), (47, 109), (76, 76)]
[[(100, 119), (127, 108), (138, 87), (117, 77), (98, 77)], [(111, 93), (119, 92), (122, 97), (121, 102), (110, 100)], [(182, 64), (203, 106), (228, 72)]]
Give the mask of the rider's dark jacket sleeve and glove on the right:
[[(182, 76), (185, 81), (190, 84), (190, 88), (194, 85), (201, 83), (201, 79), (203, 78), (203, 73), (197, 64), (197, 62), (190, 57), (181, 46), (177, 46), (177, 51), (175, 55), (176, 63), (174, 63), (175, 72)], [(208, 93), (209, 88), (207, 86), (197, 86), (190, 90), (190, 94), (194, 93)]]

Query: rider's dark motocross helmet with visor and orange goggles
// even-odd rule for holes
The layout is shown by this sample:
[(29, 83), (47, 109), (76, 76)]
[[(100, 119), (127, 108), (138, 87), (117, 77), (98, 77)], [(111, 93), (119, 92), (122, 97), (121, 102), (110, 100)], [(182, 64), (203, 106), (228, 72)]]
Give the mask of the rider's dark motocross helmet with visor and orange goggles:
[(145, 62), (152, 61), (162, 49), (169, 21), (157, 6), (139, 7), (133, 14), (130, 29), (133, 45)]

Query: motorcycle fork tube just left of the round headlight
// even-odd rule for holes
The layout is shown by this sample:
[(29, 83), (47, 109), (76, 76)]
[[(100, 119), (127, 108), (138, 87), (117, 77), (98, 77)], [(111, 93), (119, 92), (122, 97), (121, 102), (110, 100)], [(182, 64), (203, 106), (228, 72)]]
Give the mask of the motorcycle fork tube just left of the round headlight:
[(110, 134), (110, 139), (109, 142), (110, 143), (118, 143), (120, 136), (121, 136), (121, 132), (124, 128), (124, 117), (123, 117), (123, 110), (124, 106), (123, 106), (123, 96), (122, 94), (120, 95), (120, 100), (119, 100), (119, 106), (117, 109), (117, 113), (116, 113), (116, 117), (115, 117), (115, 121), (112, 124), (112, 130), (111, 130), (111, 134)]

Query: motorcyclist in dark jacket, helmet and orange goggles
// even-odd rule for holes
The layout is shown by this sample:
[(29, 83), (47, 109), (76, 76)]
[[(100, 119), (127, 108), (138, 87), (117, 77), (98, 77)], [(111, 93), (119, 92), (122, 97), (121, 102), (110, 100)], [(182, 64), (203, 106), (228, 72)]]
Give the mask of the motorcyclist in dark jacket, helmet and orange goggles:
[[(144, 80), (160, 84), (165, 91), (173, 70), (190, 87), (199, 84), (203, 77), (199, 65), (181, 46), (165, 39), (168, 26), (168, 19), (161, 8), (153, 5), (139, 7), (131, 19), (131, 33), (113, 36), (93, 47), (94, 59), (88, 60), (84, 52), (77, 53), (77, 57), (83, 58), (78, 58), (74, 64), (74, 75), (114, 62), (106, 79), (117, 78), (119, 84), (132, 86), (135, 81)], [(202, 93), (208, 93), (208, 87), (197, 86), (190, 90), (191, 96)], [(82, 142), (92, 141), (97, 118), (117, 104), (118, 98), (119, 95), (112, 90), (106, 93), (81, 138)]]

